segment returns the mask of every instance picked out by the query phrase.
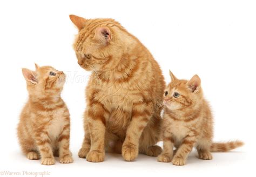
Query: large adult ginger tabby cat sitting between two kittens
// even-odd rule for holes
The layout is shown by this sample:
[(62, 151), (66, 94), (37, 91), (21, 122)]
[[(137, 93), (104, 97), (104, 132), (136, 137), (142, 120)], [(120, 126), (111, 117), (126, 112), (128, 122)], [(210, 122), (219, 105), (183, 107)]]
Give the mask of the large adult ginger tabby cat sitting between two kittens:
[(105, 147), (126, 161), (138, 153), (157, 156), (159, 103), (164, 77), (151, 53), (113, 19), (70, 15), (79, 34), (73, 48), (78, 64), (93, 71), (86, 88), (84, 141), (78, 155), (90, 162), (105, 158)]

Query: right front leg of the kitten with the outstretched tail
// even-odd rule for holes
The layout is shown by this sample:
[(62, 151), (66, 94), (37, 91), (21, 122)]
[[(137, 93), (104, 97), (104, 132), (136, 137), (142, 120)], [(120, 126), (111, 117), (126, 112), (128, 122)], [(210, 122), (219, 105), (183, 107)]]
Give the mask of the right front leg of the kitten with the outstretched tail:
[(173, 165), (185, 165), (188, 154), (192, 151), (194, 144), (196, 143), (196, 137), (194, 135), (187, 135), (184, 138), (182, 144), (177, 150), (177, 153), (174, 155), (172, 159)]

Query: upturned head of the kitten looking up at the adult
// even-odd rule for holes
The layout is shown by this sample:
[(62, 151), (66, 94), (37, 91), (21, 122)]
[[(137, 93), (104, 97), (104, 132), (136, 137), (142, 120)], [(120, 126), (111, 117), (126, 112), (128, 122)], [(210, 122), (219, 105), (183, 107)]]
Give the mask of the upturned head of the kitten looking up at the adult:
[(35, 96), (60, 94), (66, 78), (64, 72), (51, 66), (39, 67), (37, 64), (35, 66), (36, 71), (22, 69), (29, 94)]

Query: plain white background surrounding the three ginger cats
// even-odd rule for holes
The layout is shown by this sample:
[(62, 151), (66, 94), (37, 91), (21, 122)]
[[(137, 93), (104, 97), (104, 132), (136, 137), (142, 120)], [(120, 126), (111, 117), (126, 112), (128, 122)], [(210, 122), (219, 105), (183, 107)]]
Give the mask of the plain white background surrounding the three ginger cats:
[[(255, 1), (1, 1), (0, 2), (0, 175), (43, 172), (48, 176), (217, 176), (255, 175)], [(69, 14), (114, 18), (152, 52), (170, 81), (199, 74), (215, 119), (214, 140), (245, 141), (212, 161), (193, 152), (183, 167), (146, 155), (125, 162), (107, 154), (98, 164), (79, 159), (83, 140), (84, 88), (89, 72), (81, 69), (72, 49), (77, 33)], [(21, 68), (52, 65), (68, 79), (63, 99), (71, 113), (71, 151), (75, 162), (43, 166), (27, 160), (16, 138), (19, 113), (28, 97)], [(17, 176), (17, 175), (14, 175)]]

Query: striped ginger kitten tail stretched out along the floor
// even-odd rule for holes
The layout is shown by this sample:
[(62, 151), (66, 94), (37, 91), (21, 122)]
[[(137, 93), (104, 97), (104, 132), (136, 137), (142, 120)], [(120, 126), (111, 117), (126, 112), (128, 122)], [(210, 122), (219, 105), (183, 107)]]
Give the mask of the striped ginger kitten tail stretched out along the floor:
[(242, 141), (213, 142), (211, 152), (228, 152), (244, 145)]

